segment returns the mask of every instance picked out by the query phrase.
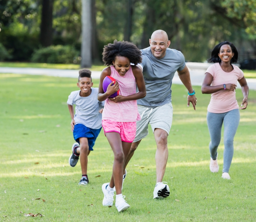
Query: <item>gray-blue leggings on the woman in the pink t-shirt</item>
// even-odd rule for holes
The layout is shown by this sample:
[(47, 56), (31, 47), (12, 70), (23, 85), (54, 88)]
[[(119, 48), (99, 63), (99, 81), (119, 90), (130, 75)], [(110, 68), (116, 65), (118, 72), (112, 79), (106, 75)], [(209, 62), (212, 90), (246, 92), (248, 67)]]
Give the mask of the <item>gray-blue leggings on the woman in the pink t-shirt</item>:
[(233, 109), (226, 113), (207, 112), (207, 125), (211, 137), (209, 144), (210, 155), (213, 160), (217, 158), (217, 149), (221, 139), (221, 127), (224, 122), (224, 153), (223, 173), (228, 173), (233, 158), (233, 141), (240, 120), (239, 109)]

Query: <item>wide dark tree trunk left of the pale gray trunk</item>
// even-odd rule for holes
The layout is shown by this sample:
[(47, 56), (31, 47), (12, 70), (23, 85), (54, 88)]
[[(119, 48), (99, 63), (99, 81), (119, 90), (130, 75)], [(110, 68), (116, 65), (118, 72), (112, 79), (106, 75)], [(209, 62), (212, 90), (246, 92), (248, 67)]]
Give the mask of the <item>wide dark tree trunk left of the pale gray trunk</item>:
[(40, 42), (45, 47), (53, 43), (53, 0), (42, 0)]

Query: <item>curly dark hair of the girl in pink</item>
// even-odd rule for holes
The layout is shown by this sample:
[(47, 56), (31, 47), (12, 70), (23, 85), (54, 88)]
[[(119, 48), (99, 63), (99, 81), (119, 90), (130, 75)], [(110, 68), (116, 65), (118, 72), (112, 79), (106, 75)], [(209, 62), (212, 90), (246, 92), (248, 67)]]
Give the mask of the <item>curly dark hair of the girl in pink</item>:
[(135, 44), (127, 41), (117, 41), (109, 43), (103, 48), (103, 62), (106, 66), (111, 66), (116, 56), (123, 56), (130, 60), (131, 63), (137, 65), (142, 62), (141, 52)]

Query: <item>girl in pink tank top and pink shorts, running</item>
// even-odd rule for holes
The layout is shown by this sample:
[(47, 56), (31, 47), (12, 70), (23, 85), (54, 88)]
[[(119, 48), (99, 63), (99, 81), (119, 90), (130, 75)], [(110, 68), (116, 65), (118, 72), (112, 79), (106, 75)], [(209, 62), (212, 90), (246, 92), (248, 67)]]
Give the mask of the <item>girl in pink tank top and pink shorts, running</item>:
[[(105, 101), (102, 112), (102, 127), (114, 153), (114, 164), (110, 183), (102, 185), (103, 206), (112, 206), (116, 189), (116, 208), (120, 212), (130, 207), (122, 195), (124, 163), (136, 134), (136, 121), (140, 120), (137, 99), (146, 96), (142, 71), (136, 65), (142, 62), (141, 52), (135, 44), (115, 40), (103, 50), (103, 61), (109, 66), (101, 72), (99, 101)], [(132, 63), (132, 64), (131, 64)], [(106, 76), (116, 79), (104, 92), (102, 83)], [(136, 92), (136, 84), (138, 92)], [(109, 98), (119, 90), (119, 95)]]

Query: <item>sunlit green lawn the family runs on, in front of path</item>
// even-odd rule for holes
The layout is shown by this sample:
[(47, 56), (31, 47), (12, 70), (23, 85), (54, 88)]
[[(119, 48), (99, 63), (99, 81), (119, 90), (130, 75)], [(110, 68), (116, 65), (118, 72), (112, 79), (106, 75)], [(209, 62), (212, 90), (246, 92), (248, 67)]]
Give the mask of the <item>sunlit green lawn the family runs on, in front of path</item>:
[[(102, 131), (89, 155), (88, 186), (77, 185), (80, 164), (74, 168), (68, 164), (74, 140), (66, 100), (71, 91), (78, 90), (76, 79), (0, 74), (0, 220), (256, 221), (256, 91), (249, 93), (248, 109), (240, 111), (231, 180), (224, 180), (223, 138), (220, 171), (209, 170), (206, 109), (210, 95), (202, 95), (200, 87), (194, 89), (196, 111), (187, 107), (185, 87), (172, 86), (173, 125), (164, 176), (170, 196), (152, 199), (156, 145), (149, 130), (127, 167), (122, 193), (131, 207), (118, 213), (114, 206), (102, 206), (101, 185), (109, 181), (113, 163)], [(241, 104), (241, 90), (236, 93)], [(45, 216), (28, 218), (24, 213)]]

